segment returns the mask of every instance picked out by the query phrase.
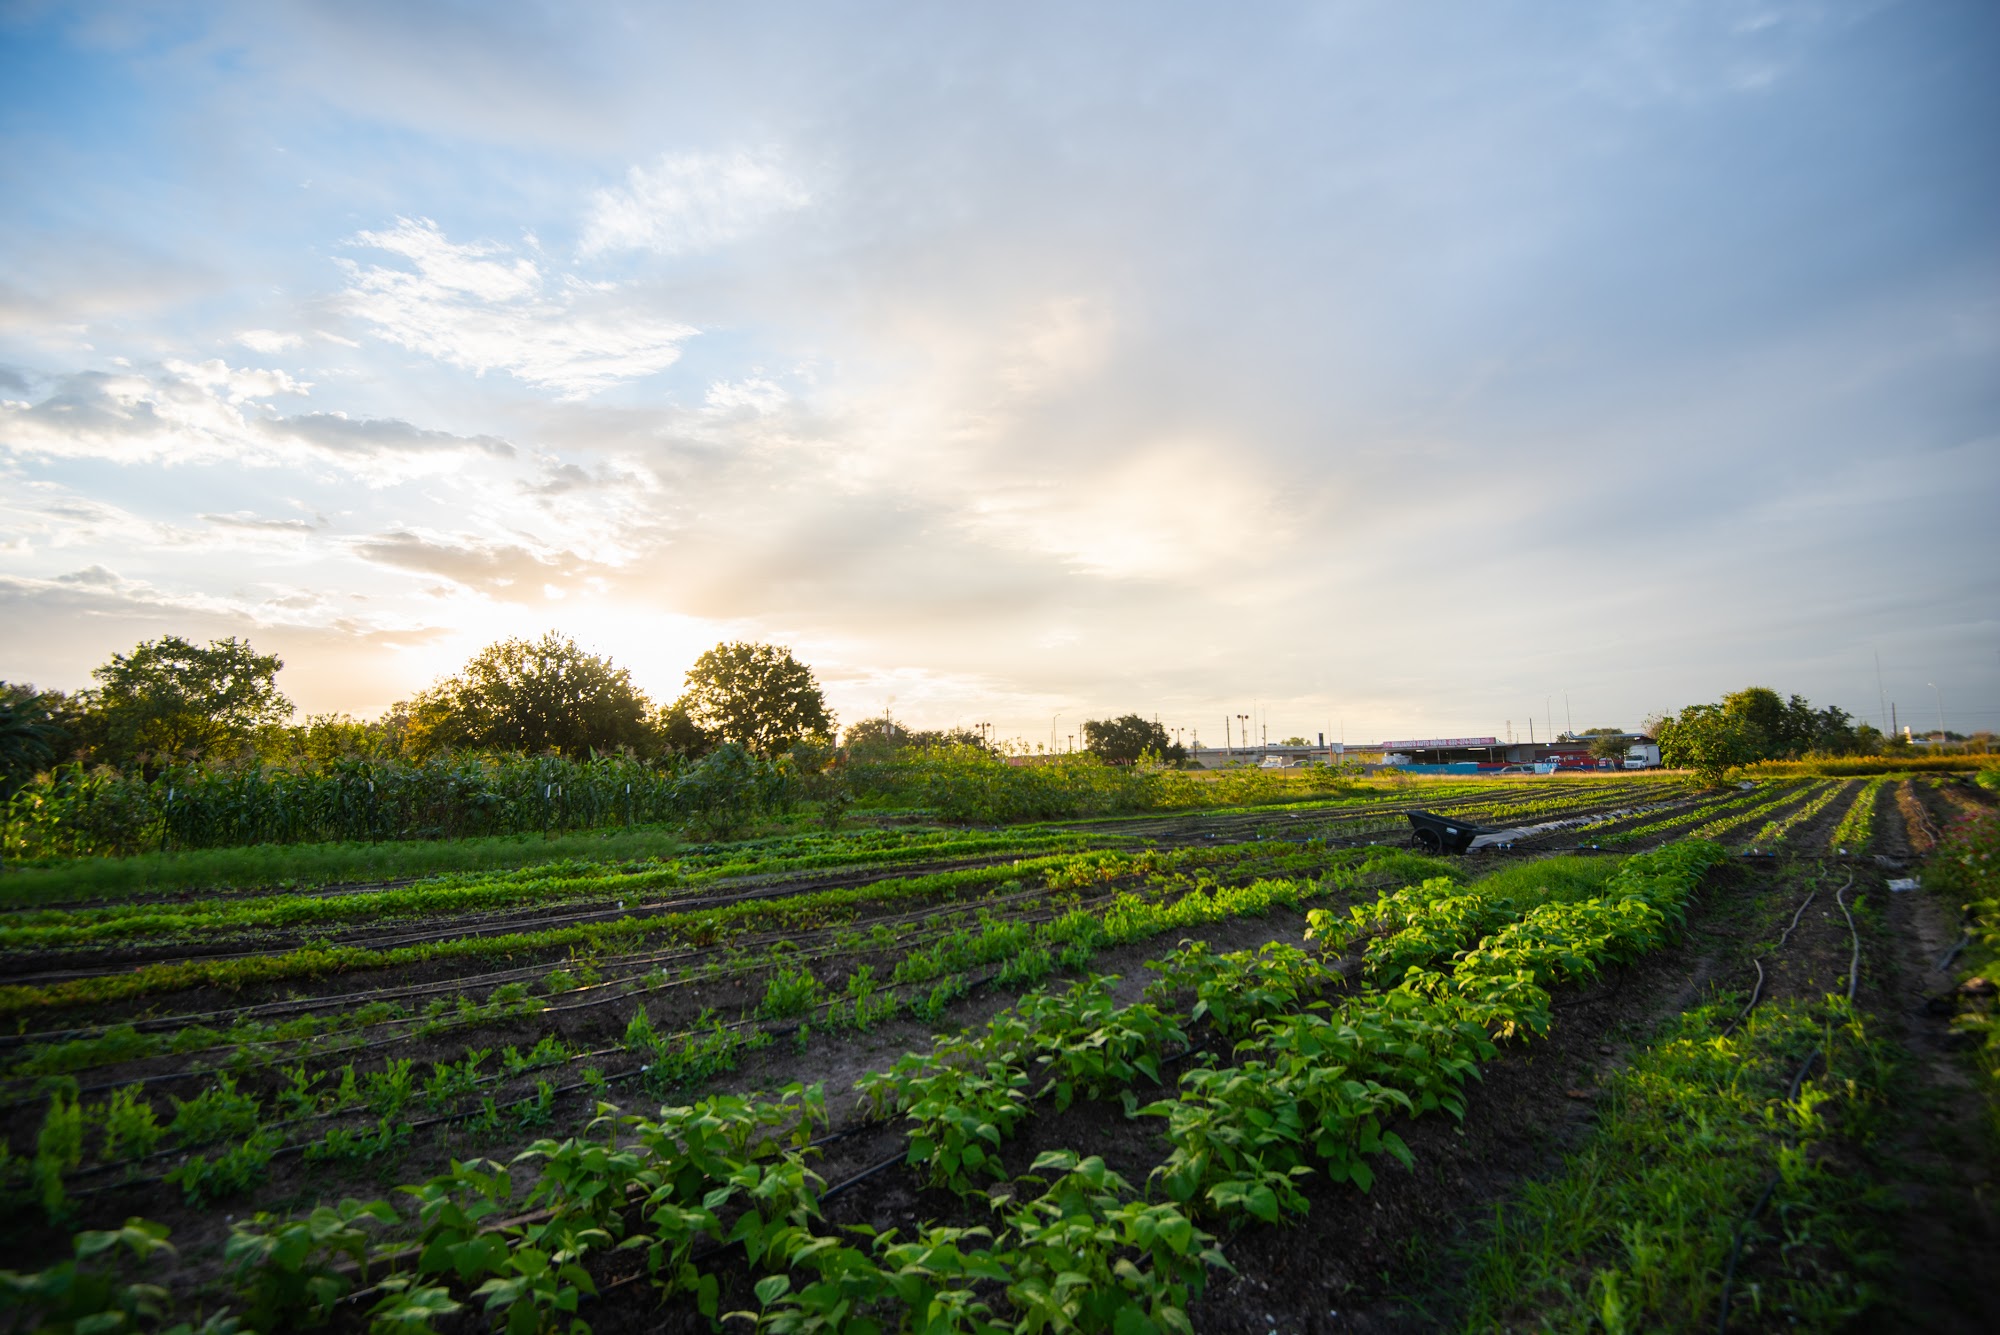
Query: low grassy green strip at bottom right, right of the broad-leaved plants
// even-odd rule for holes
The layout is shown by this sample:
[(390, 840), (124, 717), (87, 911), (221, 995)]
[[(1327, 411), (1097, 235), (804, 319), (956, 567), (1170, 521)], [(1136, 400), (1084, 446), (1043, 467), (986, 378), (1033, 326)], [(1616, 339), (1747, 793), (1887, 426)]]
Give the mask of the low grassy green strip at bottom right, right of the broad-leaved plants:
[[(1880, 1107), (1888, 1053), (1840, 995), (1766, 1005), (1732, 1033), (1734, 1017), (1678, 1017), (1610, 1079), (1564, 1171), (1494, 1211), (1466, 1265), (1466, 1329), (1738, 1329), (1718, 1319), (1732, 1251), (1760, 1329), (1850, 1327), (1870, 1293), (1848, 1261), (1882, 1239), (1834, 1141)], [(1824, 1075), (1788, 1085), (1814, 1049)], [(1766, 1177), (1768, 1227), (1746, 1225)]]

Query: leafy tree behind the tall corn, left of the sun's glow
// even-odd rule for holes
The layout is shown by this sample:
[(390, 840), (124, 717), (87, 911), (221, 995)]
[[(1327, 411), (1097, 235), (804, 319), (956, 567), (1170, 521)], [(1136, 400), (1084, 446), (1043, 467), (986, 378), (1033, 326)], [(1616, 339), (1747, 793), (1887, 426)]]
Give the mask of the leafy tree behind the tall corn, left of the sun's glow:
[(248, 640), (196, 646), (180, 636), (112, 654), (84, 691), (84, 731), (100, 759), (124, 763), (218, 755), (292, 715), (278, 691), (284, 660)]

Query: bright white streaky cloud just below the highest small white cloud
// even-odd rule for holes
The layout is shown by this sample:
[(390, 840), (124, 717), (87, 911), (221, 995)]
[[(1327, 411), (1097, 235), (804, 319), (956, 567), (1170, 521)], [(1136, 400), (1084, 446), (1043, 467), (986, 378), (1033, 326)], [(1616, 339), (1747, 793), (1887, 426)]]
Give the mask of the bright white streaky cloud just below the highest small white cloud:
[(504, 246), (454, 244), (428, 218), (398, 218), (354, 244), (412, 268), (342, 262), (348, 314), (412, 352), (480, 376), (508, 372), (562, 398), (662, 372), (698, 334), (624, 304), (612, 284), (550, 284), (532, 260)]

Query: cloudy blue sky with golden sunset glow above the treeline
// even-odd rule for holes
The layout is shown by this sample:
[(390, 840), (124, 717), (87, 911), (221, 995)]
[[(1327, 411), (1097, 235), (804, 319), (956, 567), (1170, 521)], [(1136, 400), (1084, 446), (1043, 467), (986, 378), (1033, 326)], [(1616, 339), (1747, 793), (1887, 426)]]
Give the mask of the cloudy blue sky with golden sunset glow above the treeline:
[[(2000, 8), (4, 4), (0, 677), (2000, 727)], [(1880, 675), (1878, 675), (1880, 664)]]

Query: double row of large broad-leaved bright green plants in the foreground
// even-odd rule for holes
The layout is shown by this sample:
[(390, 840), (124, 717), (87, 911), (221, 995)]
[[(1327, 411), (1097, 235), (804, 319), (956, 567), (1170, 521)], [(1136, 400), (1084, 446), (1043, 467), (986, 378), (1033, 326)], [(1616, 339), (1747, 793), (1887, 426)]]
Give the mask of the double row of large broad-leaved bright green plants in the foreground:
[[(514, 1165), (460, 1163), (416, 1187), (414, 1219), (348, 1201), (236, 1223), (238, 1315), (206, 1321), (272, 1329), (362, 1303), (376, 1329), (414, 1331), (478, 1307), (526, 1335), (576, 1329), (582, 1301), (616, 1275), (712, 1317), (724, 1299), (754, 1303), (748, 1315), (774, 1331), (1186, 1331), (1188, 1305), (1226, 1265), (1214, 1229), (1302, 1211), (1308, 1175), (1366, 1189), (1384, 1155), (1408, 1161), (1390, 1123), (1462, 1115), (1464, 1083), (1494, 1045), (1546, 1033), (1552, 987), (1660, 945), (1722, 855), (1712, 843), (1644, 853), (1596, 877), (1598, 893), (1434, 877), (1346, 913), (1314, 909), (1318, 953), (1182, 947), (1158, 961), (1144, 1001), (1118, 1005), (1112, 979), (1032, 993), (864, 1077), (872, 1107), (904, 1121), (910, 1169), (990, 1199), (994, 1227), (828, 1227), (816, 1091), (716, 1097), (656, 1119), (604, 1107), (582, 1135), (540, 1141)], [(1314, 1005), (1356, 945), (1362, 987)], [(1188, 1055), (1178, 1095), (1138, 1107), (1136, 1091)], [(1144, 1187), (1096, 1157), (1016, 1149), (1036, 1107), (1074, 1099), (1162, 1119), (1168, 1157)], [(518, 1173), (532, 1175), (524, 1195)], [(130, 1307), (140, 1277), (114, 1253), (136, 1263), (162, 1245), (134, 1221), (8, 1283), (44, 1319), (76, 1321), (78, 1293)], [(716, 1247), (742, 1249), (748, 1291), (724, 1293)]]

